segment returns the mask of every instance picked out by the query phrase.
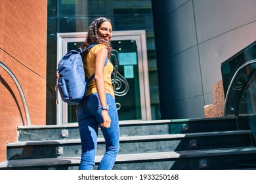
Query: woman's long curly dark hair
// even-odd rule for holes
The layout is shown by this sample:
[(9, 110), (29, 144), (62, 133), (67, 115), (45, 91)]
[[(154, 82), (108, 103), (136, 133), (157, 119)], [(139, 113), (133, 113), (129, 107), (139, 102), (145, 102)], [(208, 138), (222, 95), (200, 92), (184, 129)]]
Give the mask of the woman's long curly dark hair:
[(85, 50), (91, 44), (95, 44), (95, 43), (104, 44), (108, 48), (108, 58), (110, 58), (111, 50), (112, 50), (112, 46), (110, 42), (106, 42), (102, 37), (98, 36), (98, 28), (103, 22), (110, 22), (110, 24), (112, 24), (112, 22), (108, 18), (104, 18), (104, 17), (96, 18), (96, 20), (94, 20), (91, 23), (91, 25), (89, 25), (87, 37), (85, 39), (85, 42), (81, 44), (81, 48)]

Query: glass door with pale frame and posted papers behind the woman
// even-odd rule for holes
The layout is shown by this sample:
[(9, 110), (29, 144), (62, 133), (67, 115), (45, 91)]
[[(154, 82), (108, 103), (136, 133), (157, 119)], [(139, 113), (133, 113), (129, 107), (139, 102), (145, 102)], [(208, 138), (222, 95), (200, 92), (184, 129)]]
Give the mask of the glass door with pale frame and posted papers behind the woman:
[[(58, 60), (69, 50), (77, 49), (86, 33), (58, 34)], [(144, 31), (117, 31), (112, 37), (112, 57), (119, 120), (151, 120), (146, 37)], [(59, 97), (60, 98), (60, 97)], [(77, 122), (74, 105), (59, 101), (58, 124)]]

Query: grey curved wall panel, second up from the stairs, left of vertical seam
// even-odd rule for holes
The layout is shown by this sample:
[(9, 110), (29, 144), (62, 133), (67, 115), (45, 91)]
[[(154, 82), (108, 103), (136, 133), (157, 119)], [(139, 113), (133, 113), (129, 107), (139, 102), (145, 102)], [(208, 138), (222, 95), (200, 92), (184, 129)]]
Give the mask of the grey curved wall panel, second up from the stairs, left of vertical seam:
[(171, 68), (166, 85), (169, 89), (168, 101), (203, 94), (197, 46), (169, 58), (167, 67)]

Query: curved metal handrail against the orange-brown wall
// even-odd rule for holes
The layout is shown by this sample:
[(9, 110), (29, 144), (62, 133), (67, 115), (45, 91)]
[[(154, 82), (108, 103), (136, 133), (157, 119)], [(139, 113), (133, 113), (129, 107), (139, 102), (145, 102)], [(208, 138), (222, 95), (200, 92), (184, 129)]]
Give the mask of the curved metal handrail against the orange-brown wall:
[(22, 87), (20, 86), (20, 82), (18, 82), (18, 79), (16, 78), (16, 76), (12, 73), (11, 69), (9, 69), (9, 67), (7, 67), (2, 61), (0, 61), (0, 66), (5, 69), (5, 71), (7, 71), (7, 73), (9, 73), (9, 75), (11, 76), (11, 78), (14, 80), (17, 88), (18, 88), (18, 91), (20, 92), (20, 96), (22, 97), (22, 102), (23, 102), (23, 105), (24, 105), (24, 108), (25, 108), (25, 112), (26, 112), (26, 118), (27, 118), (27, 124), (28, 125), (31, 125), (31, 121), (30, 121), (30, 114), (28, 112), (28, 105), (27, 105), (27, 102), (26, 102), (26, 98), (25, 98), (25, 95), (24, 95), (24, 92), (22, 90)]

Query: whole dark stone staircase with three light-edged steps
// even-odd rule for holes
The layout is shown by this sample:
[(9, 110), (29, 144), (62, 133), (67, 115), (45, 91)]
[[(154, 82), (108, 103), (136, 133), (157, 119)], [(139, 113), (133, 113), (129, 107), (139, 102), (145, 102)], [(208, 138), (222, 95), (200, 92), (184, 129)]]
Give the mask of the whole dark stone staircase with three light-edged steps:
[[(120, 122), (114, 169), (255, 169), (256, 146), (246, 117)], [(99, 131), (96, 166), (104, 154)], [(78, 169), (77, 124), (18, 127), (0, 169)]]

